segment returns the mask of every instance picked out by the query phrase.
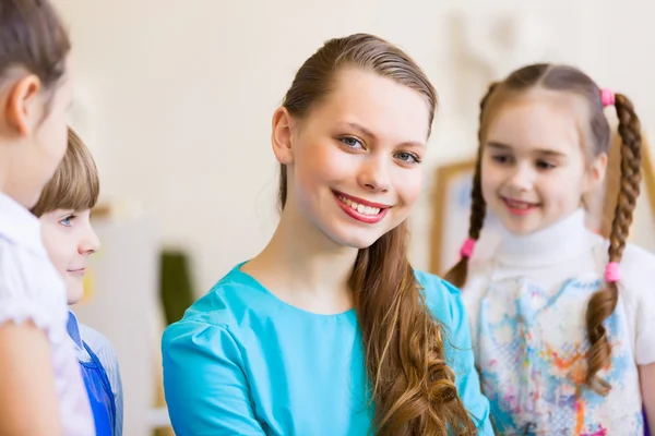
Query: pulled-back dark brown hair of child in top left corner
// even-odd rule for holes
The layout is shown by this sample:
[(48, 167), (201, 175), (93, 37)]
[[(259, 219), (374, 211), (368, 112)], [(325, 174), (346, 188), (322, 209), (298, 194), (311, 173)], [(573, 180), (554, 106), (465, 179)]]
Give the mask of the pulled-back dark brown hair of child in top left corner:
[(0, 1), (0, 77), (23, 68), (51, 88), (66, 73), (71, 44), (47, 0)]

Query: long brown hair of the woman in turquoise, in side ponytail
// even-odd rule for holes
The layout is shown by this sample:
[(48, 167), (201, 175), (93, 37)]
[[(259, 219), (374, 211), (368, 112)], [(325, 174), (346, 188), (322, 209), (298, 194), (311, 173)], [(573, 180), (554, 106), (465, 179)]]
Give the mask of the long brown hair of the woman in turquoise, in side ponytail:
[[(298, 70), (284, 107), (302, 120), (334, 85), (344, 66), (360, 68), (420, 93), (430, 125), (437, 93), (420, 68), (378, 37), (356, 34), (331, 39)], [(286, 168), (279, 172), (279, 205), (287, 197)], [(406, 254), (403, 223), (360, 250), (349, 279), (361, 328), (365, 360), (381, 436), (475, 434), (444, 361), (443, 330), (422, 299)]]

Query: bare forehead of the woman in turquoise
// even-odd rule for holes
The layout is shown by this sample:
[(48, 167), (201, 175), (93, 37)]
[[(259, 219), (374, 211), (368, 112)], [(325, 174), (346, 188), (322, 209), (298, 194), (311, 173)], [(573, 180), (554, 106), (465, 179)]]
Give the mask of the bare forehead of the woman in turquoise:
[(318, 123), (357, 123), (394, 142), (425, 143), (429, 131), (429, 107), (420, 93), (361, 69), (342, 70), (312, 112)]

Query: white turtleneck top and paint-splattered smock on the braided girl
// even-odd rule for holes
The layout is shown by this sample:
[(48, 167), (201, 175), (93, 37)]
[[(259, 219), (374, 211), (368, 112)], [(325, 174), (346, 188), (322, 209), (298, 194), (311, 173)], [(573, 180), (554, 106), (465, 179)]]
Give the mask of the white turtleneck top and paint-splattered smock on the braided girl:
[(606, 397), (584, 385), (585, 313), (603, 283), (607, 242), (576, 211), (529, 235), (502, 234), (473, 258), (463, 290), (476, 365), (499, 434), (643, 435), (638, 365), (655, 362), (655, 256), (629, 245), (620, 294), (605, 322)]

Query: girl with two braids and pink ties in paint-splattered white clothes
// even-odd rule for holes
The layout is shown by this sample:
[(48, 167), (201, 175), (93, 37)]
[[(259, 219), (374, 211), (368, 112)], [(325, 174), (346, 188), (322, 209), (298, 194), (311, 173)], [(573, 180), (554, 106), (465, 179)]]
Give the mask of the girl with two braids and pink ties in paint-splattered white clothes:
[[(585, 228), (619, 119), (609, 241)], [(565, 65), (522, 68), (481, 101), (469, 238), (446, 279), (463, 289), (497, 432), (643, 435), (655, 424), (655, 256), (627, 245), (641, 128), (630, 100)], [(501, 223), (473, 256), (487, 213)]]

